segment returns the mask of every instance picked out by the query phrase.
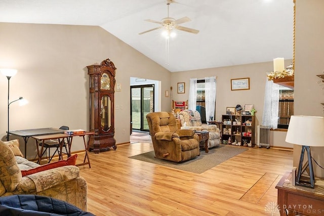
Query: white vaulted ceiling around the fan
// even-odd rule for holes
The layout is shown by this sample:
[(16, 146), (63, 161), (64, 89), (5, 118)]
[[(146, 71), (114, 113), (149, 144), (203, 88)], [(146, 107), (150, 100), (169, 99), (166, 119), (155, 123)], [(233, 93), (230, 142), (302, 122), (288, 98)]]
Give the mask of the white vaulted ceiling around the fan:
[[(166, 0), (2, 0), (0, 22), (96, 25), (171, 72), (293, 57), (293, 0), (176, 0), (174, 19), (189, 17), (166, 39), (146, 22), (168, 16)], [(1, 32), (3, 33), (3, 32)]]

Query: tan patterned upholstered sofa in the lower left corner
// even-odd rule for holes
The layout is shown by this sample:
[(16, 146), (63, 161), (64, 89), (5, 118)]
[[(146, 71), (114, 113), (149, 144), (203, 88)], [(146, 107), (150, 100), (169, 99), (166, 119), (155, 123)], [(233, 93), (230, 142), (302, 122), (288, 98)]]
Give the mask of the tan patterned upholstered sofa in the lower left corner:
[(23, 177), (21, 170), (39, 167), (39, 164), (22, 157), (19, 146), (18, 150), (12, 149), (7, 142), (0, 141), (0, 196), (41, 195), (87, 210), (87, 182), (79, 176), (77, 166), (51, 168)]

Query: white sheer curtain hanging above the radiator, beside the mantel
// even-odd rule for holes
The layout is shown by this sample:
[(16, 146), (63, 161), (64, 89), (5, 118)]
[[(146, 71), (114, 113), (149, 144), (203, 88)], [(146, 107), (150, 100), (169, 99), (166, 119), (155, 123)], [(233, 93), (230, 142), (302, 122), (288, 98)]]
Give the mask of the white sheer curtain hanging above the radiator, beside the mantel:
[(266, 81), (264, 93), (264, 106), (262, 125), (271, 126), (273, 129), (278, 127), (278, 108), (279, 108), (279, 85), (273, 80)]

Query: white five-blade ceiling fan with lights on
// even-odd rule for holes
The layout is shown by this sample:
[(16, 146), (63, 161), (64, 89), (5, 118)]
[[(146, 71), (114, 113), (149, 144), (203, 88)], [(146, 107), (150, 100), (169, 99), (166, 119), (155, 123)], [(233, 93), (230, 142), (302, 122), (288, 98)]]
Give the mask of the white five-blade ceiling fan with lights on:
[(171, 32), (172, 29), (178, 29), (178, 30), (181, 30), (181, 31), (186, 31), (186, 32), (189, 32), (189, 33), (197, 34), (199, 32), (199, 30), (196, 30), (196, 29), (193, 29), (193, 28), (187, 28), (187, 27), (183, 27), (183, 26), (179, 25), (179, 24), (191, 21), (188, 17), (183, 17), (183, 18), (180, 18), (180, 19), (177, 19), (177, 20), (174, 19), (174, 18), (169, 17), (169, 6), (170, 6), (171, 3), (176, 3), (176, 2), (174, 0), (167, 0), (168, 17), (161, 19), (160, 22), (155, 21), (155, 20), (145, 20), (147, 22), (153, 22), (153, 23), (160, 24), (161, 26), (149, 29), (147, 31), (143, 31), (143, 32), (141, 32), (139, 34), (144, 34), (144, 33), (147, 33), (147, 32), (150, 32), (150, 31), (153, 31), (153, 30), (156, 30), (156, 29), (160, 29), (160, 28), (166, 29), (167, 32), (168, 32), (168, 35), (170, 35), (170, 32)]

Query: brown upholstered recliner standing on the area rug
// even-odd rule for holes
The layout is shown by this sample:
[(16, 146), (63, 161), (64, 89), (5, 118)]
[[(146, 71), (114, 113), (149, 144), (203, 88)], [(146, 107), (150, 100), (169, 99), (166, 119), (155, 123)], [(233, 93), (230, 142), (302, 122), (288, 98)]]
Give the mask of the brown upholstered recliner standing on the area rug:
[(172, 113), (152, 112), (146, 119), (156, 158), (180, 162), (200, 155), (198, 135), (192, 129), (178, 129)]

